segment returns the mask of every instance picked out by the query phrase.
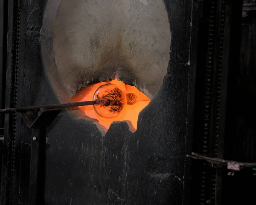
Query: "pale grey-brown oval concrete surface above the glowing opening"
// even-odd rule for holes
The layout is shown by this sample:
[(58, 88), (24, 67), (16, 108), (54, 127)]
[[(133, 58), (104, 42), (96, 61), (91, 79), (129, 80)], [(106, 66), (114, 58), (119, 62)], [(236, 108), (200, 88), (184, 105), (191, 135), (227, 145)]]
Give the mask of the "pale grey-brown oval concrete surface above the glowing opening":
[(67, 94), (117, 73), (152, 98), (169, 61), (165, 10), (162, 0), (61, 0), (53, 49)]

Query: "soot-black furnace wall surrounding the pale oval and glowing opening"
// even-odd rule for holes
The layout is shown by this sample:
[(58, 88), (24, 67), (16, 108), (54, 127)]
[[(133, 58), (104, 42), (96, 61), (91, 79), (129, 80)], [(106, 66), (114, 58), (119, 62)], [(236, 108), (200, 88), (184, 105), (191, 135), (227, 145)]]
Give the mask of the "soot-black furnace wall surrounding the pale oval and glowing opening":
[[(8, 41), (11, 45), (18, 39), (16, 52), (12, 50), (16, 56), (10, 57), (7, 72), (7, 77), (15, 74), (7, 88), (11, 102), (7, 106), (70, 100), (58, 83), (60, 79), (56, 77), (56, 84), (51, 81), (51, 85), (46, 73), (55, 65), (52, 23), (59, 3), (20, 0), (9, 4), (13, 11), (10, 34), (13, 29), (19, 36), (10, 36)], [(164, 3), (172, 34), (170, 60), (160, 89), (140, 113), (137, 131), (131, 133), (126, 122), (116, 122), (102, 136), (90, 120), (77, 117), (79, 111), (62, 111), (47, 128), (45, 204), (180, 205), (188, 200), (183, 197), (189, 189), (185, 154), (191, 151), (197, 50), (194, 25), (198, 20), (192, 8), (198, 3)], [(52, 69), (50, 75), (54, 74)], [(8, 143), (9, 148), (15, 146), (16, 158), (15, 169), (7, 172), (13, 182), (3, 187), (3, 193), (12, 191), (15, 197), (5, 198), (8, 194), (3, 194), (2, 200), (27, 204), (31, 130), (20, 114), (7, 119), (17, 121), (6, 131), (11, 133)]]

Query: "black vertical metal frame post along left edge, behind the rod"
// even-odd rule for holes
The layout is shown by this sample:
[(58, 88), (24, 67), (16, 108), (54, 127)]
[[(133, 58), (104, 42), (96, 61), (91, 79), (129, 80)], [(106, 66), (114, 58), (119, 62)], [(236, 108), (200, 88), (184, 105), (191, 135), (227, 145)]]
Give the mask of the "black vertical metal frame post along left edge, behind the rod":
[[(7, 3), (5, 1), (5, 3)], [(19, 46), (20, 46), (20, 5), (17, 1), (8, 1), (8, 9), (5, 7), (6, 16), (8, 20), (8, 38), (7, 44), (12, 45), (6, 50), (6, 94), (5, 94), (5, 107), (17, 106), (17, 85), (18, 85), (18, 72), (19, 72)], [(2, 182), (1, 182), (1, 204), (15, 204), (15, 199), (18, 193), (18, 175), (19, 175), (19, 148), (17, 144), (19, 137), (17, 137), (17, 115), (8, 114), (5, 116), (4, 125), (4, 148), (2, 166)], [(10, 179), (10, 180), (3, 180)]]

